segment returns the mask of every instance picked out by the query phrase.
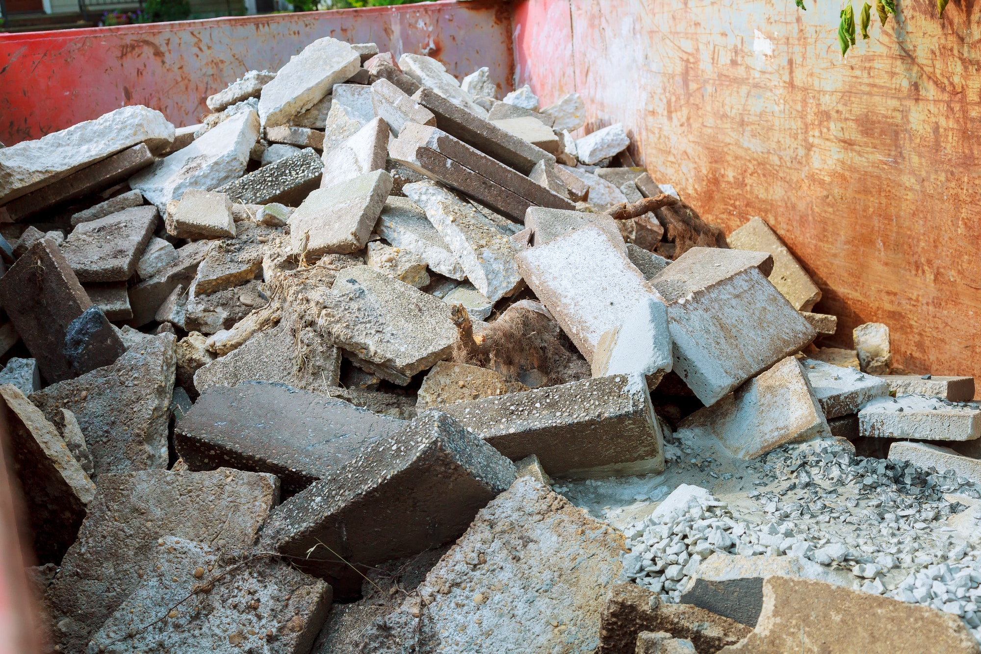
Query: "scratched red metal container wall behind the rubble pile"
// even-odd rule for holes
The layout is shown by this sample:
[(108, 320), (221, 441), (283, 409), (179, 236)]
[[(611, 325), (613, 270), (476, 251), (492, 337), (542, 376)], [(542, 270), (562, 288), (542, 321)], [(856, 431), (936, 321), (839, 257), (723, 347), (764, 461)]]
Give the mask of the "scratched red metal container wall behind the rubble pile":
[(462, 77), (481, 66), (503, 92), (513, 69), (507, 8), (490, 0), (0, 34), (0, 141), (7, 145), (125, 105), (175, 125), (252, 69), (275, 71), (323, 36), (439, 59)]

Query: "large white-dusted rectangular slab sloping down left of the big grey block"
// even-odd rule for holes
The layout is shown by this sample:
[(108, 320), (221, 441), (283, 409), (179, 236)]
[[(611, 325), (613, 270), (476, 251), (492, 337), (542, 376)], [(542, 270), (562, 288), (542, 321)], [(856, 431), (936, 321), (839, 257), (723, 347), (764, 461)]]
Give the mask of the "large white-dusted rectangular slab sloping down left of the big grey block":
[[(594, 377), (671, 370), (667, 311), (621, 243), (585, 226), (516, 258), (518, 270), (593, 364)], [(633, 356), (630, 356), (630, 353)]]

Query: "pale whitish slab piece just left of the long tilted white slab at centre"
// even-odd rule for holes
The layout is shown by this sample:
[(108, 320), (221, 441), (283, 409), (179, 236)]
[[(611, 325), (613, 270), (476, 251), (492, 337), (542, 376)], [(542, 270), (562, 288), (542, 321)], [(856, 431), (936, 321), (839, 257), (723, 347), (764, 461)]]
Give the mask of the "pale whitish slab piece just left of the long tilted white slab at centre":
[(453, 279), (466, 277), (446, 241), (426, 218), (426, 212), (412, 200), (389, 196), (375, 229), (393, 246), (419, 255), (439, 275)]

